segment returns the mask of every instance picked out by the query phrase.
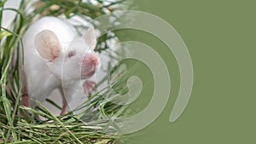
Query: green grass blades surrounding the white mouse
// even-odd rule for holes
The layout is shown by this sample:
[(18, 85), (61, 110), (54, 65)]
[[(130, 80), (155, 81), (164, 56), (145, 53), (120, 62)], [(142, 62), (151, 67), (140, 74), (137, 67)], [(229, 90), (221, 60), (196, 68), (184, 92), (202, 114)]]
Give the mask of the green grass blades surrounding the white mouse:
[[(120, 94), (127, 92), (125, 84), (127, 74), (119, 73), (119, 78), (115, 78), (112, 84), (102, 93), (90, 95), (89, 100), (77, 107), (74, 111), (79, 114), (74, 115), (68, 112), (65, 115), (56, 117), (38, 102), (37, 109), (22, 107), (20, 105), (20, 94), (22, 77), (19, 69), (20, 61), (16, 59), (22, 43), (20, 38), (30, 26), (32, 20), (37, 20), (44, 15), (60, 16), (65, 15), (67, 19), (73, 15), (86, 15), (94, 19), (102, 14), (120, 9), (115, 5), (123, 3), (123, 0), (116, 3), (98, 4), (82, 3), (75, 0), (40, 0), (32, 3), (35, 7), (28, 13), (28, 1), (22, 0), (19, 9), (3, 9), (5, 1), (0, 2), (0, 24), (2, 24), (2, 13), (11, 10), (16, 13), (12, 26), (7, 29), (1, 25), (0, 29), (0, 143), (119, 143), (122, 135), (117, 133), (104, 132), (104, 130), (114, 130), (111, 117), (123, 116), (127, 113), (126, 107), (115, 105), (106, 101), (103, 97), (107, 95), (110, 88)], [(84, 19), (87, 19), (84, 17)], [(102, 52), (108, 49), (108, 41), (113, 35), (103, 35), (99, 37), (96, 51)], [(105, 78), (107, 80), (107, 78)], [(9, 92), (8, 89), (9, 88)], [(49, 101), (55, 107), (54, 101)], [(40, 115), (45, 119), (38, 119), (35, 115)]]

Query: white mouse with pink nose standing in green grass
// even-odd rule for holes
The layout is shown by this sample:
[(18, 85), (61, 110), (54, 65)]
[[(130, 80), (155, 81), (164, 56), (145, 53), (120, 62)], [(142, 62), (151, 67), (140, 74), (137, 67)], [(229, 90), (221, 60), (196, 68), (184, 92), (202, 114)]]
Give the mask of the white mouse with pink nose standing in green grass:
[[(96, 47), (93, 26), (83, 37), (76, 36), (73, 26), (55, 17), (41, 18), (27, 29), (22, 37), (24, 83), (21, 102), (24, 106), (33, 107), (34, 101), (44, 101), (54, 89), (59, 89), (63, 102), (61, 114), (67, 112), (66, 99), (73, 99), (81, 79), (93, 76), (99, 66), (99, 56), (93, 51)], [(94, 89), (95, 84), (84, 82), (84, 87)]]

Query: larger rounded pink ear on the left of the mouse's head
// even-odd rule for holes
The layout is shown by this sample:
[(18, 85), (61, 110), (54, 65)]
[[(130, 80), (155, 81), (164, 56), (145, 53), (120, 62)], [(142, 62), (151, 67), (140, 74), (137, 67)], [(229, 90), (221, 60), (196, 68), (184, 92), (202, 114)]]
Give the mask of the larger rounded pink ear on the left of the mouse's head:
[(39, 32), (34, 39), (34, 43), (38, 53), (45, 59), (53, 61), (60, 55), (61, 43), (52, 31)]

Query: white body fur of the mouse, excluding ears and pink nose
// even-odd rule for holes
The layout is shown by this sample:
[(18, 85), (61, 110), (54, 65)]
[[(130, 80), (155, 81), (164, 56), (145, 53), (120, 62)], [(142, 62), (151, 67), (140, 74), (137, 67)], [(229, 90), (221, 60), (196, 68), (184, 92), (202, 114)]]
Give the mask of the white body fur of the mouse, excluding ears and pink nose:
[[(61, 43), (60, 55), (54, 61), (43, 58), (35, 48), (35, 37), (43, 30), (54, 32)], [(22, 38), (25, 86), (32, 100), (44, 101), (54, 89), (60, 89), (61, 93), (68, 95), (67, 101), (72, 99), (73, 92), (76, 91), (75, 87), (81, 83), (80, 67), (84, 53), (94, 53), (94, 48), (88, 46), (90, 43), (85, 43), (82, 38), (74, 39), (76, 35), (77, 32), (73, 26), (55, 17), (37, 20), (27, 29)], [(76, 55), (68, 59), (67, 54), (72, 50), (76, 51)], [(65, 89), (62, 89), (63, 86)], [(33, 106), (34, 103), (31, 105)]]

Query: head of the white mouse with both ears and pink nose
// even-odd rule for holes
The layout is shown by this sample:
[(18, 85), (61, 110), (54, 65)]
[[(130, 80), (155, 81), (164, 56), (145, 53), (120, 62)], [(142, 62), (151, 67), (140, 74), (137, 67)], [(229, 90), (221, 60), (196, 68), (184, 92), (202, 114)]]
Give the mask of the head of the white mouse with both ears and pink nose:
[(67, 45), (61, 44), (54, 32), (38, 32), (34, 40), (39, 55), (47, 60), (49, 71), (62, 80), (90, 78), (99, 67), (96, 47), (96, 33), (90, 26), (83, 37)]

